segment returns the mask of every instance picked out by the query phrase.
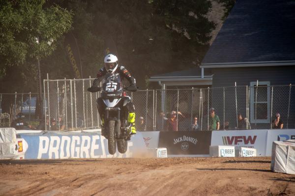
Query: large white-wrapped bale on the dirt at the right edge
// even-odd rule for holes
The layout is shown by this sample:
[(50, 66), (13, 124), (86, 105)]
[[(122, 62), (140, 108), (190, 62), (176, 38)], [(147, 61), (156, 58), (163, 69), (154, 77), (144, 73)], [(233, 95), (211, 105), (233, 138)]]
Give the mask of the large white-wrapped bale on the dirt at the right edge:
[(295, 140), (272, 143), (271, 171), (295, 174)]

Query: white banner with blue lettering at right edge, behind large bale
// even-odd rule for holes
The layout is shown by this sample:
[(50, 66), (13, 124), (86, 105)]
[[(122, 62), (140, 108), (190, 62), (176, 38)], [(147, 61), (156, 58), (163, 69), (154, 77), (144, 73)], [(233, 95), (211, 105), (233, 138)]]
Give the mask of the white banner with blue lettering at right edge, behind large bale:
[(295, 140), (295, 129), (271, 129), (267, 133), (266, 156), (271, 156), (273, 141)]

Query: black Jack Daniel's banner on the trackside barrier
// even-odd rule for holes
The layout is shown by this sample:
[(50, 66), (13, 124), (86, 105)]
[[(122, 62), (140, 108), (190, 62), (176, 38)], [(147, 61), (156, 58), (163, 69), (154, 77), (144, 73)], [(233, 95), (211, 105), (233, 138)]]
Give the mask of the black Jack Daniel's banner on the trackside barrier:
[(159, 147), (168, 155), (209, 154), (211, 131), (161, 131)]

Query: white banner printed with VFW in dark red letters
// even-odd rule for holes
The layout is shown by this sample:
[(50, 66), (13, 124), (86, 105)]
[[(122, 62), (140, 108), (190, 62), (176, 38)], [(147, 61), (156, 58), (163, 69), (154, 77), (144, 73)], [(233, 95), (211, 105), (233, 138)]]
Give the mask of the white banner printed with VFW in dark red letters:
[(211, 146), (252, 147), (266, 155), (267, 130), (212, 131)]

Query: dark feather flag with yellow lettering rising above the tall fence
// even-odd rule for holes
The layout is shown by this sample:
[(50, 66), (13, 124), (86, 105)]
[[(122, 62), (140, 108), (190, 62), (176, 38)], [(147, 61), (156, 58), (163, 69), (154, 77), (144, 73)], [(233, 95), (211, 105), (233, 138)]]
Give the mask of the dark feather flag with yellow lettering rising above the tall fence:
[[(73, 33), (68, 33), (64, 39), (64, 47), (71, 64), (71, 67), (75, 73), (76, 79), (81, 79), (82, 76), (82, 65), (80, 60), (80, 52), (78, 48), (78, 43)], [(81, 73), (80, 73), (81, 71)]]

